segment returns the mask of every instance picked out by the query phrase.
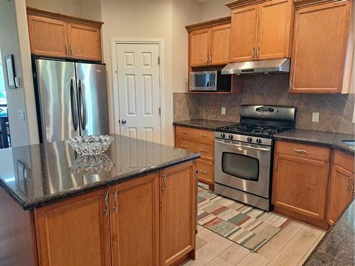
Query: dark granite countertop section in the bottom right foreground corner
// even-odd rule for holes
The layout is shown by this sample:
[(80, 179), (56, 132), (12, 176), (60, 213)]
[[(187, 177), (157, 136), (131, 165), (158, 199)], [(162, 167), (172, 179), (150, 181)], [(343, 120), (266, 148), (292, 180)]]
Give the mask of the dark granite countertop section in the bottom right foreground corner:
[(337, 222), (329, 228), (304, 265), (354, 265), (354, 217), (353, 200)]

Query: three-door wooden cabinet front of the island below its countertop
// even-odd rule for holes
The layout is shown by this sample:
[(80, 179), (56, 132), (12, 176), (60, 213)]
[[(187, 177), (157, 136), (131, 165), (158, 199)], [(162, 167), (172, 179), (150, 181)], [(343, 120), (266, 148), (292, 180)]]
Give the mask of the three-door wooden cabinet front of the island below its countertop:
[(196, 163), (34, 210), (39, 265), (178, 265), (195, 257)]

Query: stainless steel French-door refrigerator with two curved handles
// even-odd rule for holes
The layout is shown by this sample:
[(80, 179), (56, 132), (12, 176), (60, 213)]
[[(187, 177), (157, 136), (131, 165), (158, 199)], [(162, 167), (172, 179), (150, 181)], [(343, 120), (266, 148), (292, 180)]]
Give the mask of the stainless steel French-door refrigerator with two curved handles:
[(44, 59), (34, 63), (43, 143), (109, 134), (105, 65)]

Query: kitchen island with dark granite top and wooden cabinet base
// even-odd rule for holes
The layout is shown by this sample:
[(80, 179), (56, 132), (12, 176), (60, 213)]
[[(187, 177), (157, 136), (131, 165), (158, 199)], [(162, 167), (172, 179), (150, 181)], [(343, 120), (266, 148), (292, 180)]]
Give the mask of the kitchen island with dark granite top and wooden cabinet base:
[(65, 141), (0, 150), (1, 265), (178, 265), (195, 257), (200, 154), (113, 136), (94, 161), (77, 159)]

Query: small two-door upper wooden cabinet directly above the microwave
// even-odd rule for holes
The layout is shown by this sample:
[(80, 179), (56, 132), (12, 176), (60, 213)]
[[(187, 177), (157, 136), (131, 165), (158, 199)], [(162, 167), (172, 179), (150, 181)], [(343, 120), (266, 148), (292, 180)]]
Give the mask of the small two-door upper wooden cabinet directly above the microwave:
[(228, 64), (230, 28), (230, 17), (186, 26), (190, 67)]

